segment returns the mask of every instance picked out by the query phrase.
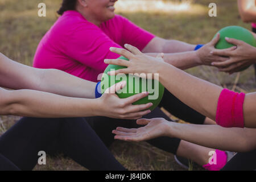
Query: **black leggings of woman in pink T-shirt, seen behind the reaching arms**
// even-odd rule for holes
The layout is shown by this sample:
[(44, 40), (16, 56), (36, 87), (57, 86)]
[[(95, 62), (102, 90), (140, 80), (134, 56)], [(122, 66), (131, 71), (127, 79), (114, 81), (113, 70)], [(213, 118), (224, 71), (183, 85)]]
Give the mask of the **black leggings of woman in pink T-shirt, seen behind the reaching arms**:
[[(203, 124), (205, 121), (204, 115), (191, 109), (191, 107), (188, 107), (187, 105), (183, 104), (183, 102), (179, 101), (170, 92), (168, 92), (167, 89), (164, 90), (164, 96), (159, 106), (164, 107), (164, 109), (168, 110), (171, 114), (190, 123), (200, 125)], [(143, 118), (165, 118), (168, 121), (171, 120), (167, 117), (166, 114), (163, 113), (162, 110), (160, 110), (159, 107), (156, 107), (155, 110), (153, 110), (150, 114), (145, 115)], [(109, 147), (110, 144), (112, 144), (114, 141), (114, 134), (112, 134), (112, 130), (114, 130), (116, 127), (141, 127), (137, 125), (134, 121), (112, 119), (106, 117), (89, 117), (86, 118), (86, 121), (90, 123), (94, 131), (96, 131), (97, 135), (101, 138), (101, 140), (106, 144), (107, 147)], [(152, 146), (158, 147), (164, 151), (176, 154), (177, 148), (179, 147), (180, 144), (180, 139), (170, 137), (159, 137), (148, 140), (147, 142), (152, 144)]]

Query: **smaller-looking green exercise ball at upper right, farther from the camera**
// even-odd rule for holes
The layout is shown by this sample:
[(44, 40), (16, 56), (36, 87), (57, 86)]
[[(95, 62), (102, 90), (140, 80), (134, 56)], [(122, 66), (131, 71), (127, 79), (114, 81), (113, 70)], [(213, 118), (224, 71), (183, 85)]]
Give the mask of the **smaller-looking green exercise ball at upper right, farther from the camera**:
[[(254, 36), (246, 28), (243, 28), (240, 26), (228, 26), (228, 27), (222, 28), (220, 31), (217, 32), (217, 34), (218, 33), (220, 33), (220, 40), (215, 45), (215, 48), (217, 48), (217, 49), (226, 49), (226, 48), (235, 46), (234, 44), (230, 44), (230, 43), (226, 42), (226, 40), (225, 40), (226, 37), (237, 39), (237, 40), (242, 40), (243, 42), (256, 47), (256, 41), (254, 39)], [(216, 37), (216, 35), (214, 37)], [(240, 71), (243, 71), (249, 67), (245, 67), (245, 68), (241, 69)]]

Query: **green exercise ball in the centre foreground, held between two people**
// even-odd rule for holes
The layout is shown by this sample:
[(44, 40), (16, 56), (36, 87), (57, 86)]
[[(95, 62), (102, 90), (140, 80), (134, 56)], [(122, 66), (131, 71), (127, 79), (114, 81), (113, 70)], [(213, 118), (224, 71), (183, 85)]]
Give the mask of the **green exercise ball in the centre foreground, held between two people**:
[[(123, 56), (119, 57), (118, 59), (129, 61), (128, 59), (126, 59), (126, 57), (123, 57)], [(119, 98), (127, 98), (138, 93), (149, 92), (147, 97), (144, 97), (141, 100), (134, 102), (133, 104), (140, 105), (140, 104), (147, 104), (149, 102), (152, 102), (153, 105), (149, 109), (151, 111), (154, 110), (155, 107), (159, 105), (160, 101), (163, 98), (164, 86), (160, 84), (160, 82), (158, 82), (157, 80), (140, 78), (138, 76), (131, 76), (128, 74), (127, 75), (120, 74), (116, 76), (108, 75), (109, 71), (118, 70), (122, 68), (127, 68), (127, 67), (110, 64), (105, 69), (104, 74), (102, 75), (102, 78), (101, 78), (101, 93), (104, 93), (105, 90), (108, 89), (110, 86), (125, 80), (126, 86), (122, 90), (117, 91), (116, 93), (117, 96)], [(155, 86), (155, 85), (158, 85), (158, 86)]]

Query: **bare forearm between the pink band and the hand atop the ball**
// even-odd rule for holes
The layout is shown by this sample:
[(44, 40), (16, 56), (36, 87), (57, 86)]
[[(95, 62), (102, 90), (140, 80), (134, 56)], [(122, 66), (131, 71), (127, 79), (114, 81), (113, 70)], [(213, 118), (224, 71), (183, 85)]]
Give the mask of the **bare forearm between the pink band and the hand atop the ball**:
[(169, 64), (158, 66), (159, 81), (184, 104), (215, 120), (220, 86), (201, 80)]

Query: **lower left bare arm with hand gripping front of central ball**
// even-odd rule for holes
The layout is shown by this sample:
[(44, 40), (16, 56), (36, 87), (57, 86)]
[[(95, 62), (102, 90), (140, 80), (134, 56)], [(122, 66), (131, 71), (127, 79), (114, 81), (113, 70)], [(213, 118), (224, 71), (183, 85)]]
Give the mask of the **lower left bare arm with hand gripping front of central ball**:
[[(135, 119), (150, 113), (146, 110), (152, 104), (132, 105), (147, 96), (137, 94), (120, 99), (115, 91), (123, 88), (124, 82), (110, 87), (97, 99), (74, 98), (37, 90), (5, 90), (0, 88), (0, 114), (27, 117), (62, 118), (106, 116), (112, 118)], [(144, 111), (141, 111), (144, 110)]]

